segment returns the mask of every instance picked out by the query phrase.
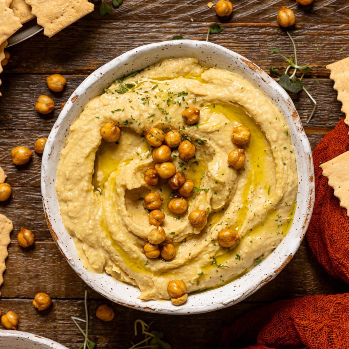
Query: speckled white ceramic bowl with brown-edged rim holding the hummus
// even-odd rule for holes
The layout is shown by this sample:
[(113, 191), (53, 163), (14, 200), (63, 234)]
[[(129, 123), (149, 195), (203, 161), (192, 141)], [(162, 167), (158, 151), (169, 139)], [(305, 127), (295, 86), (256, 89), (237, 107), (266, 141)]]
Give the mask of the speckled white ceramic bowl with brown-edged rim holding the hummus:
[[(202, 64), (239, 73), (277, 105), (291, 132), (298, 170), (297, 208), (290, 231), (276, 250), (262, 263), (239, 279), (220, 288), (191, 295), (185, 304), (143, 301), (140, 291), (111, 276), (88, 272), (76, 255), (73, 239), (64, 228), (55, 191), (55, 178), (60, 151), (64, 147), (69, 125), (79, 116), (84, 105), (103, 93), (103, 88), (122, 76), (147, 67), (163, 58), (195, 56)], [(53, 239), (70, 266), (94, 290), (116, 303), (136, 309), (172, 314), (208, 312), (240, 302), (272, 280), (291, 260), (303, 240), (314, 202), (314, 170), (309, 141), (288, 94), (262, 69), (239, 54), (222, 46), (196, 40), (173, 40), (144, 45), (126, 52), (98, 68), (70, 96), (47, 140), (42, 159), (41, 189), (44, 210)]]

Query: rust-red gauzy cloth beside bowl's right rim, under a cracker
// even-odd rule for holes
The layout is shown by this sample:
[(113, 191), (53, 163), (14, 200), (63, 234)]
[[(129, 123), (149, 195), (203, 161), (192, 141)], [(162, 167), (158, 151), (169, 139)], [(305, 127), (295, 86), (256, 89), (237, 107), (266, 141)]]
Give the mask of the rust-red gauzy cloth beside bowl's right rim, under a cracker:
[[(349, 283), (349, 217), (333, 188), (322, 176), (320, 164), (349, 150), (349, 127), (344, 118), (313, 151), (315, 205), (306, 233), (311, 250), (327, 273)], [(343, 169), (349, 171), (349, 169)]]

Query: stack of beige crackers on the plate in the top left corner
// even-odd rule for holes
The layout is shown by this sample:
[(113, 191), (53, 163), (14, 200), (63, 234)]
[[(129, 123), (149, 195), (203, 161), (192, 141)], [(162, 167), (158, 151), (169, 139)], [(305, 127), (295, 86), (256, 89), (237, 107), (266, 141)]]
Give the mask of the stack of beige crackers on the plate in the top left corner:
[(51, 37), (93, 10), (88, 0), (0, 0), (0, 63), (5, 58), (6, 40), (35, 16), (44, 35)]

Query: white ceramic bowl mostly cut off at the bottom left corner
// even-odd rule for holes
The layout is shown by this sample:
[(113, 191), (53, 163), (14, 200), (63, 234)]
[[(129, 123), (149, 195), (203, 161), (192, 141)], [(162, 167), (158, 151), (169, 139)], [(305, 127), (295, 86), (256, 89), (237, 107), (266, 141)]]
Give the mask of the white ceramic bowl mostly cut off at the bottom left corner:
[(0, 330), (0, 348), (7, 349), (68, 349), (44, 337), (28, 332)]

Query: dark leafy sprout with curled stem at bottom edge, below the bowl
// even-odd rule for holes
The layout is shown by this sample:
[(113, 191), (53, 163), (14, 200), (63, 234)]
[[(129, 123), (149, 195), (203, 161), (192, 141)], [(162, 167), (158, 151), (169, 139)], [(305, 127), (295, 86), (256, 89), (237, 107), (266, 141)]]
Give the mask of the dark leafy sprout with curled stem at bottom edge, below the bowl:
[(155, 348), (155, 349), (171, 349), (171, 346), (169, 343), (165, 342), (163, 340), (164, 334), (163, 332), (158, 331), (150, 331), (150, 324), (146, 324), (143, 320), (136, 320), (134, 322), (134, 334), (137, 336), (137, 325), (140, 324), (142, 328), (142, 334), (145, 336), (143, 340), (136, 344), (132, 344), (132, 347), (129, 347), (128, 349), (145, 349), (145, 348)]

